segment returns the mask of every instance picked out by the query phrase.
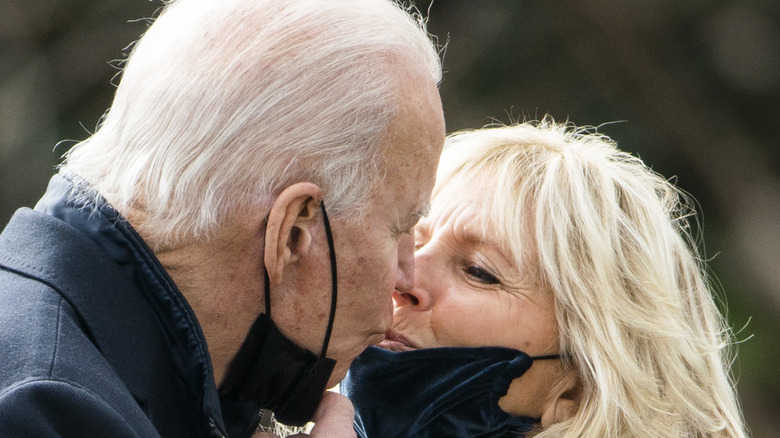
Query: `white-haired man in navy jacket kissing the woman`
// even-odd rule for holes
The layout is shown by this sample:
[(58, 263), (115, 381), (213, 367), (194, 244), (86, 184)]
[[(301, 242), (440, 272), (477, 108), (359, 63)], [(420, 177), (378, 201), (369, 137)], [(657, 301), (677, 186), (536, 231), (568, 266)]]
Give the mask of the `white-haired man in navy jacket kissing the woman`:
[(0, 235), (0, 436), (351, 434), (320, 399), (413, 282), (440, 77), (389, 0), (166, 6)]

